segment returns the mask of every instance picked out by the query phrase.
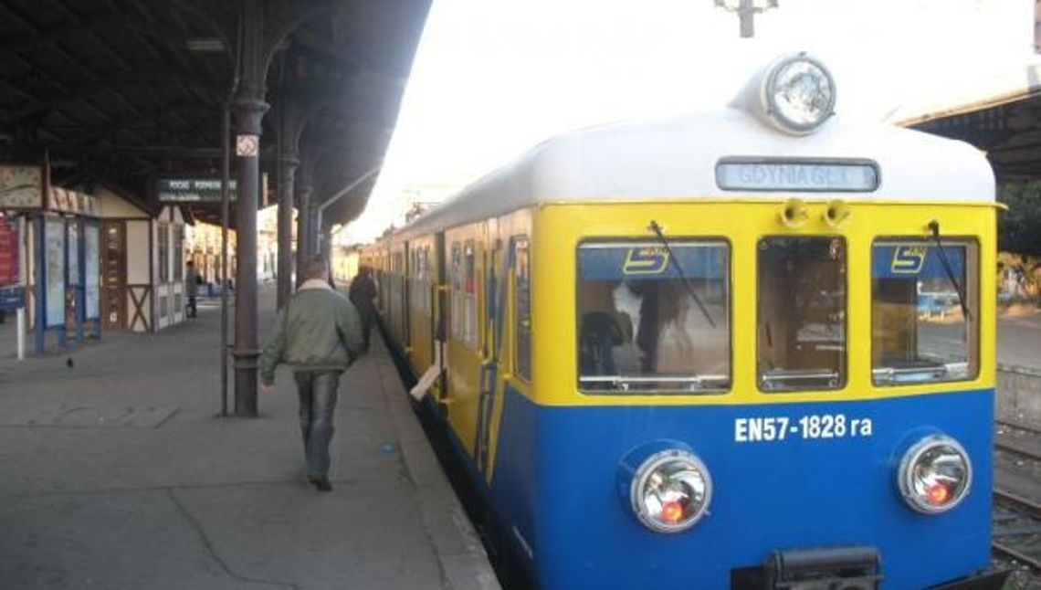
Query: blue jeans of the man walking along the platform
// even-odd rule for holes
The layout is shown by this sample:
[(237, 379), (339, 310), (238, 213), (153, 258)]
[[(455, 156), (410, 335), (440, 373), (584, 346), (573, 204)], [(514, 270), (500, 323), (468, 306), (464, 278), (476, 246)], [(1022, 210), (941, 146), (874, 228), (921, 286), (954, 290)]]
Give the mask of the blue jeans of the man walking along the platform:
[(307, 474), (327, 477), (339, 373), (300, 371), (294, 373), (293, 377), (297, 380), (297, 392), (300, 394), (300, 433), (304, 437)]

